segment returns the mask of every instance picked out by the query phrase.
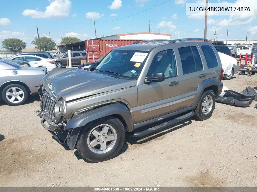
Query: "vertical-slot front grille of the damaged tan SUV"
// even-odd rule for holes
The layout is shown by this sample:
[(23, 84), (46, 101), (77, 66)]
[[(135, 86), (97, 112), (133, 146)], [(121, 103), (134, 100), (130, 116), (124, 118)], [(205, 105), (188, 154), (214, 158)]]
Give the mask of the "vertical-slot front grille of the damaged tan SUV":
[(41, 110), (50, 118), (53, 115), (56, 101), (48, 93), (44, 93), (41, 99)]

